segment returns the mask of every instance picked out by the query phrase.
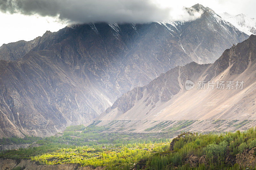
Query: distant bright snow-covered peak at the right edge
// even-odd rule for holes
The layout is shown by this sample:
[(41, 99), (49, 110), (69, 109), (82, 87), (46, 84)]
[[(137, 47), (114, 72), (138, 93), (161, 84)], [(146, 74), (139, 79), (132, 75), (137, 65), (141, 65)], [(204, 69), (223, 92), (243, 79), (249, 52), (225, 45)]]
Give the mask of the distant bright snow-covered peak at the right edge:
[(220, 14), (221, 18), (227, 20), (240, 31), (247, 35), (256, 34), (256, 19), (250, 18), (244, 14), (231, 15), (227, 12)]

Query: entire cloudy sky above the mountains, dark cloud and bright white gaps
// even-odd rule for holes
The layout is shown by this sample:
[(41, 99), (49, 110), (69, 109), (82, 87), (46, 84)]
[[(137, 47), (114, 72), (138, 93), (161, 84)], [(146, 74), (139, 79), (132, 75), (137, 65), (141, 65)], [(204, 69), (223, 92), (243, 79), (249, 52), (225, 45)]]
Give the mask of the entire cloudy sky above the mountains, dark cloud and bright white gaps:
[(0, 46), (32, 40), (69, 23), (193, 20), (182, 7), (202, 4), (216, 13), (256, 18), (255, 0), (0, 0)]

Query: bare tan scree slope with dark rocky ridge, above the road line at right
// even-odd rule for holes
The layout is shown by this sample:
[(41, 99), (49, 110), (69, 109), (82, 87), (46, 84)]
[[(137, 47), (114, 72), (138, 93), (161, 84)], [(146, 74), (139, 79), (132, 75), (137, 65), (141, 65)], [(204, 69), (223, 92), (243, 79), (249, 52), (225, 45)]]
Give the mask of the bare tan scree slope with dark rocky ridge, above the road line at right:
[[(148, 85), (134, 88), (116, 100), (98, 120), (254, 120), (256, 35), (224, 51), (213, 64), (190, 63), (162, 74)], [(195, 82), (191, 90), (185, 81)], [(197, 83), (205, 81), (205, 89)], [(209, 86), (233, 81), (234, 89)], [(235, 87), (244, 81), (243, 88)], [(239, 84), (240, 85), (240, 84)]]

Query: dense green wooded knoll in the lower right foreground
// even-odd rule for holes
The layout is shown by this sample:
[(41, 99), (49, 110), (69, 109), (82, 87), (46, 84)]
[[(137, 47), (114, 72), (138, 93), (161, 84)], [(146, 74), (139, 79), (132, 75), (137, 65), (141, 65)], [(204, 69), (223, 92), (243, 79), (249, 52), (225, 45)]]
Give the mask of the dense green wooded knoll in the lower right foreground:
[[(234, 163), (234, 160), (237, 154), (239, 158), (239, 154), (248, 154), (248, 151), (254, 147), (256, 147), (256, 129), (254, 128), (243, 133), (236, 131), (185, 135), (185, 137), (175, 138), (172, 151), (156, 153), (149, 157), (144, 167), (150, 170), (246, 169), (243, 165)], [(255, 156), (252, 155), (252, 157)], [(193, 160), (195, 160), (194, 163)], [(255, 166), (248, 168), (255, 169)]]

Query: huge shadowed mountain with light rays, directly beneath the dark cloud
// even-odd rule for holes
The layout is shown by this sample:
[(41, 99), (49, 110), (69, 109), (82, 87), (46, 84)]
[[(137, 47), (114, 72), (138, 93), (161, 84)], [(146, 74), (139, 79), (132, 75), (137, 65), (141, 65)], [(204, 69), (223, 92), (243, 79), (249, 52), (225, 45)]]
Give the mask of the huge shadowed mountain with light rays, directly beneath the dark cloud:
[(202, 16), (189, 22), (72, 25), (0, 47), (0, 136), (52, 135), (89, 122), (134, 87), (177, 65), (213, 62), (248, 37), (209, 8), (197, 4), (187, 10)]

